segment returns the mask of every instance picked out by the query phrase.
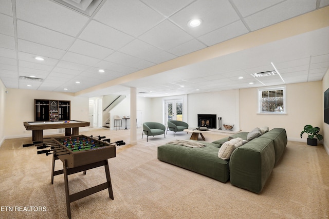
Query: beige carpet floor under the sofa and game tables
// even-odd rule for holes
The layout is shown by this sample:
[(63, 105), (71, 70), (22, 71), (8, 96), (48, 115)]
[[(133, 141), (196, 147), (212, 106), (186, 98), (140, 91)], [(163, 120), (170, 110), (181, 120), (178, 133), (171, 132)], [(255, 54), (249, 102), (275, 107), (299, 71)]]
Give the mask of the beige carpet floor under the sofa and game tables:
[[(90, 129), (129, 142), (129, 130)], [(255, 194), (157, 160), (157, 146), (190, 134), (145, 136), (117, 146), (109, 159), (114, 200), (107, 190), (71, 203), (72, 218), (328, 218), (329, 155), (323, 146), (288, 142), (263, 191)], [(206, 134), (206, 141), (226, 137)], [(25, 147), (31, 138), (0, 147), (0, 218), (67, 218), (63, 175), (50, 184), (51, 156)], [(56, 162), (56, 169), (62, 162)], [(70, 193), (105, 182), (104, 167), (69, 175)]]

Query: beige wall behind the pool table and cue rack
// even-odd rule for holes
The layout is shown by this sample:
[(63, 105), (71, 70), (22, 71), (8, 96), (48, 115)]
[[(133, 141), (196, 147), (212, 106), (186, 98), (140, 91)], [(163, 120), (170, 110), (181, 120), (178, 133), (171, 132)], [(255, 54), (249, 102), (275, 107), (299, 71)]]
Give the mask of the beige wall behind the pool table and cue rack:
[[(88, 121), (89, 98), (75, 97), (71, 93), (7, 89), (5, 98), (4, 135), (6, 138), (32, 136), (24, 122), (34, 121), (34, 99), (71, 101), (71, 120)], [(84, 129), (84, 127), (80, 128)], [(58, 129), (45, 130), (44, 134), (59, 133)]]

